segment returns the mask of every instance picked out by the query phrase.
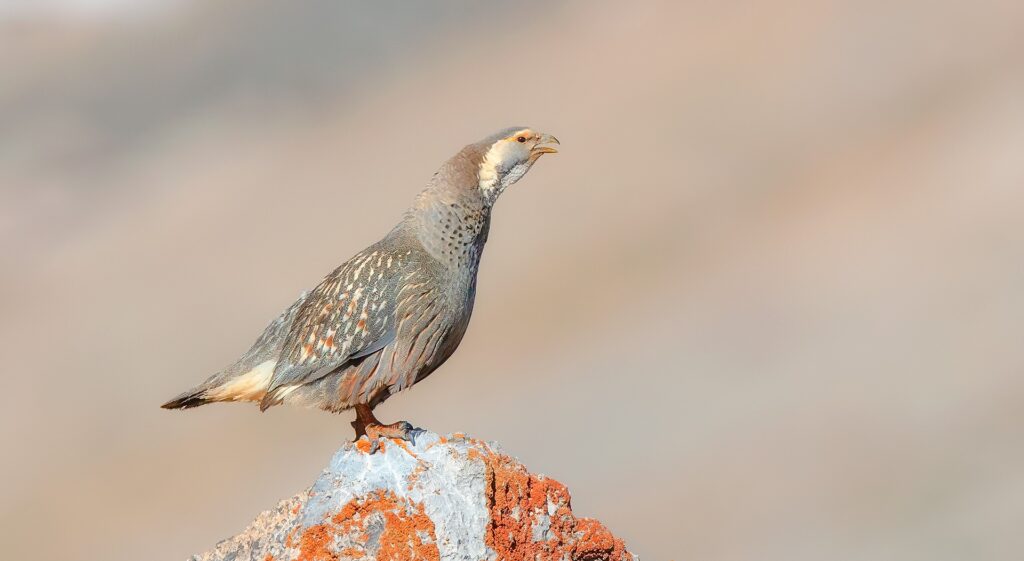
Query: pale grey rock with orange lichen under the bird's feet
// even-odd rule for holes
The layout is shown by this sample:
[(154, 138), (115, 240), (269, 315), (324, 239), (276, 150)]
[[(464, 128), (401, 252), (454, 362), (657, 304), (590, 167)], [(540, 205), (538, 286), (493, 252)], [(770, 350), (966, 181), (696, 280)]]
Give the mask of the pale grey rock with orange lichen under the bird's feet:
[(312, 487), (202, 561), (635, 560), (569, 491), (494, 444), (420, 434), (415, 444), (347, 443)]

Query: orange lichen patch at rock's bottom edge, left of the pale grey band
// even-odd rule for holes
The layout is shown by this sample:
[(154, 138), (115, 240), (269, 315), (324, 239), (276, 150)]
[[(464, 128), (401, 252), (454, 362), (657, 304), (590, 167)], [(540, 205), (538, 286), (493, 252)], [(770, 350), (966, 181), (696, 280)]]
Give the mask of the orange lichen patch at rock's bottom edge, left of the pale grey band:
[(440, 559), (434, 523), (423, 505), (385, 490), (353, 499), (329, 520), (306, 528), (298, 547), (298, 561)]

